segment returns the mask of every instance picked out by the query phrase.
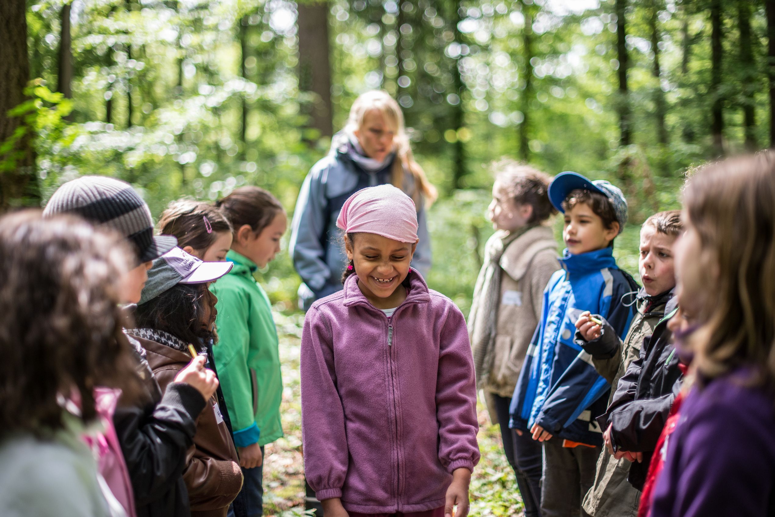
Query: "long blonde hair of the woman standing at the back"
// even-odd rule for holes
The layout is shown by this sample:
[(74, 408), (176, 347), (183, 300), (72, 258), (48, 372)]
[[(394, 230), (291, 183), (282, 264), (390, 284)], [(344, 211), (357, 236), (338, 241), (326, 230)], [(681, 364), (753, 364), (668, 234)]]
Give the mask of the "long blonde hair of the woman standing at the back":
[(393, 171), (391, 174), (391, 183), (398, 188), (404, 188), (404, 174), (406, 171), (412, 174), (415, 180), (415, 191), (409, 193), (415, 202), (419, 205), (422, 198), (431, 205), (436, 201), (438, 192), (428, 178), (425, 171), (415, 161), (415, 155), (412, 153), (412, 146), (409, 144), (409, 137), (406, 134), (404, 126), (404, 113), (395, 99), (384, 90), (367, 91), (358, 96), (350, 108), (350, 116), (347, 119), (345, 131), (354, 133), (363, 127), (363, 119), (367, 112), (376, 109), (395, 126), (395, 135), (393, 136), (393, 148), (398, 160), (393, 162)]

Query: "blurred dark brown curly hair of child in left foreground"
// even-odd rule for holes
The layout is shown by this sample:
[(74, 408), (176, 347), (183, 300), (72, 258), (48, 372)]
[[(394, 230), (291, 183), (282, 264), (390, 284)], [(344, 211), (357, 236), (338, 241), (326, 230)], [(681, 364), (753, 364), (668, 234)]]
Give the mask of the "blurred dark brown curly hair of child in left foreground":
[(125, 240), (72, 215), (0, 218), (0, 433), (64, 428), (58, 398), (137, 388), (117, 282), (134, 255)]

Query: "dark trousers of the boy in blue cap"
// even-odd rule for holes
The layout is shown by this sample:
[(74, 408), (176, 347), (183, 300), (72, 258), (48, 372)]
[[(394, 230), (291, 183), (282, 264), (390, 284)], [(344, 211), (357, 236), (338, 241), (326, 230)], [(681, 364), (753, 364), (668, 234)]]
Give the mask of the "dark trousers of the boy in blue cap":
[(563, 439), (557, 436), (543, 443), (543, 517), (587, 515), (581, 509), (581, 501), (594, 484), (601, 449), (599, 446), (563, 447)]

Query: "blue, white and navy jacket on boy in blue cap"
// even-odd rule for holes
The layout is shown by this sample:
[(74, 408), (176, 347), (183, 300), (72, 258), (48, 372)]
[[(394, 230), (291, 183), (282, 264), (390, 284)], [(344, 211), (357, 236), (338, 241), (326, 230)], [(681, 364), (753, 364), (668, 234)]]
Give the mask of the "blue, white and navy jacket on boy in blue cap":
[(605, 317), (622, 339), (636, 308), (622, 296), (638, 284), (616, 266), (612, 248), (560, 258), (543, 291), (541, 319), (525, 357), (509, 408), (514, 429), (534, 424), (555, 436), (601, 445), (594, 417), (605, 413), (611, 385), (594, 369), (591, 356), (574, 343), (577, 311)]

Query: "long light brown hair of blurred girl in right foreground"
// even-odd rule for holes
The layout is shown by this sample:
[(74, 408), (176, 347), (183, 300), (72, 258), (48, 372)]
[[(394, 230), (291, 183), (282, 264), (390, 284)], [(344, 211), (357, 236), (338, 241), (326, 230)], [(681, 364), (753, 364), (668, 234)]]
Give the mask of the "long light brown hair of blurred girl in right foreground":
[(710, 164), (684, 191), (684, 224), (696, 229), (709, 302), (696, 337), (700, 377), (743, 364), (775, 381), (775, 153)]

